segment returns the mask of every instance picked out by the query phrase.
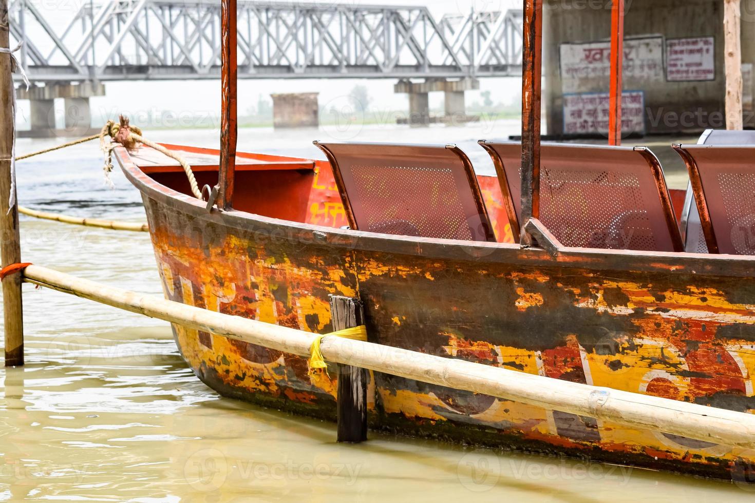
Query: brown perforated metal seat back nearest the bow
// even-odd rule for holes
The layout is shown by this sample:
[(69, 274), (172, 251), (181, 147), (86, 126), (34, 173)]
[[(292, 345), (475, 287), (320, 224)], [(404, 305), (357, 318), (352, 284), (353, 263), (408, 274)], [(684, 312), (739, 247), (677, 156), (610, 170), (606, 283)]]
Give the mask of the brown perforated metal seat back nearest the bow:
[(353, 229), (495, 241), (472, 164), (457, 146), (319, 143)]

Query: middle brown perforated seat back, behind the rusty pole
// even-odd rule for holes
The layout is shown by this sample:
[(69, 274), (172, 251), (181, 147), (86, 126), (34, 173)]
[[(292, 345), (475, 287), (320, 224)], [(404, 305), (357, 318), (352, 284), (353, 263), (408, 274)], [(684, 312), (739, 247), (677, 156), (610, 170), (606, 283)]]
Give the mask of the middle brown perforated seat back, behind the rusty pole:
[[(522, 204), (522, 146), (479, 144), (490, 154), (514, 235)], [(661, 164), (645, 147), (541, 145), (540, 220), (568, 247), (682, 251)]]

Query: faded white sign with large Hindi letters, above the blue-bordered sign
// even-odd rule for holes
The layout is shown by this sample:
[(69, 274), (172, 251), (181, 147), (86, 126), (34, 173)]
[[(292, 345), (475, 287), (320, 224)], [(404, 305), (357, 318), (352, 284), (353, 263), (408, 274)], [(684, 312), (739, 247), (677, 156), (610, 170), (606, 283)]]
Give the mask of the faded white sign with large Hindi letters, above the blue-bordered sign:
[[(561, 83), (564, 93), (584, 93), (609, 88), (611, 42), (561, 44)], [(644, 88), (664, 81), (663, 37), (624, 40), (624, 87)]]

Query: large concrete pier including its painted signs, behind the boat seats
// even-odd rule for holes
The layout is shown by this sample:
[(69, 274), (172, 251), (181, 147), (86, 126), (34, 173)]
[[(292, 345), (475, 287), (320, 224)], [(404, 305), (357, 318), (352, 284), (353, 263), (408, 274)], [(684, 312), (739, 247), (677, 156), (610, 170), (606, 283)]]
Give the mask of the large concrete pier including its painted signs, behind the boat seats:
[[(742, 13), (744, 124), (752, 127), (755, 0), (742, 0)], [(646, 133), (725, 127), (723, 0), (626, 0), (624, 26), (624, 132), (640, 126)], [(583, 135), (593, 118), (607, 124), (603, 107), (591, 106), (603, 100), (595, 93), (609, 90), (610, 29), (610, 0), (547, 0), (547, 133)]]

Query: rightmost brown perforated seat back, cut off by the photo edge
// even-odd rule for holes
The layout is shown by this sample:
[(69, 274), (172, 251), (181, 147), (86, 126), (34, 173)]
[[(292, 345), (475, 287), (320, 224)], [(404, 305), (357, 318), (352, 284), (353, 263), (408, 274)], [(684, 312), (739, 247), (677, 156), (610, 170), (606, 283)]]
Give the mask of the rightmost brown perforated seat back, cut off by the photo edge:
[(755, 146), (684, 145), (677, 151), (690, 171), (707, 249), (755, 255)]

